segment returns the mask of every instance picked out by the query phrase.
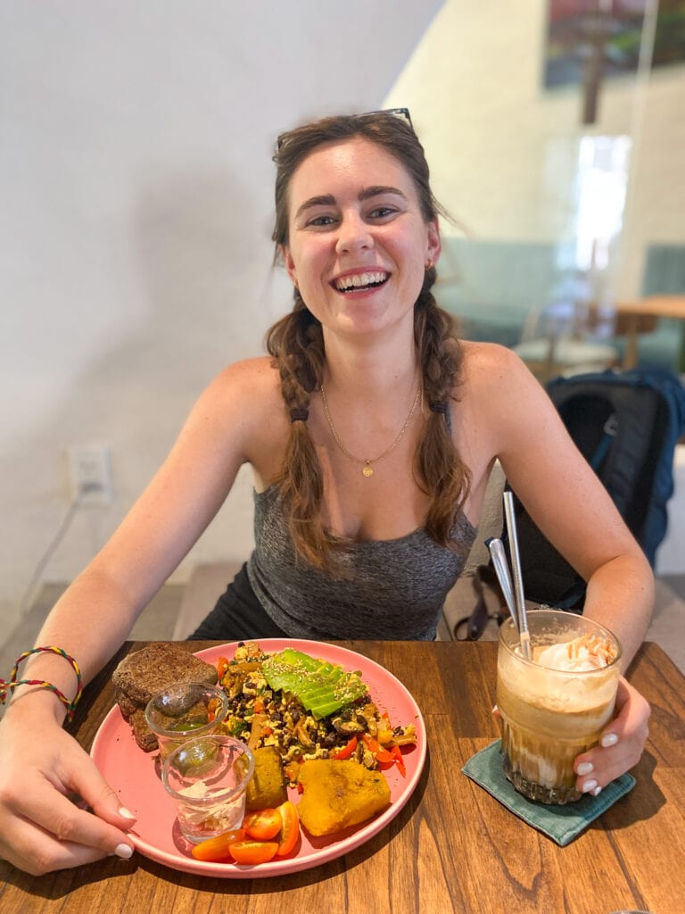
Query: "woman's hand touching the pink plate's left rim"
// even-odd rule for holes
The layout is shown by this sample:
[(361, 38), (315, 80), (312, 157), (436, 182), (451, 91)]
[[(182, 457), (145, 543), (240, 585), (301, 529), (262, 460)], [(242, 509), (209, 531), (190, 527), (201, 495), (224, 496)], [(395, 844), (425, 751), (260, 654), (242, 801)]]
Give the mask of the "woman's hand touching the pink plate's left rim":
[[(74, 794), (92, 812), (72, 802)], [(128, 859), (126, 830), (134, 821), (53, 715), (22, 699), (7, 708), (0, 721), (0, 857), (33, 876), (105, 856)]]

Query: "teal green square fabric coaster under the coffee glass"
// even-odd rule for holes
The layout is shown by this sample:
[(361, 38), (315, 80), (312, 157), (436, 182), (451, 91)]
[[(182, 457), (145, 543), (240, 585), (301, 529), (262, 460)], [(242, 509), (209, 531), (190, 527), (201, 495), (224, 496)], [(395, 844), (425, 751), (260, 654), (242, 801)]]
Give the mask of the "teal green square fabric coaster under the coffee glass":
[(577, 838), (597, 816), (635, 787), (632, 774), (622, 774), (596, 797), (589, 794), (564, 806), (548, 806), (527, 800), (507, 781), (501, 765), (501, 739), (480, 749), (461, 769), (471, 780), (492, 794), (512, 813), (564, 847)]

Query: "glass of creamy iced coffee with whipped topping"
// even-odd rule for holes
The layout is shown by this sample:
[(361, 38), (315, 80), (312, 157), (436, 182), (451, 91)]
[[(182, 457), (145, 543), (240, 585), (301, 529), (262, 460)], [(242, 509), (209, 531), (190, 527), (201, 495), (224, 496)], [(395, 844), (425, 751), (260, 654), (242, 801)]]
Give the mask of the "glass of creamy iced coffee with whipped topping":
[(532, 659), (508, 619), (500, 628), (497, 706), (504, 772), (531, 800), (578, 800), (574, 760), (595, 746), (616, 701), (616, 636), (603, 625), (561, 610), (527, 613)]

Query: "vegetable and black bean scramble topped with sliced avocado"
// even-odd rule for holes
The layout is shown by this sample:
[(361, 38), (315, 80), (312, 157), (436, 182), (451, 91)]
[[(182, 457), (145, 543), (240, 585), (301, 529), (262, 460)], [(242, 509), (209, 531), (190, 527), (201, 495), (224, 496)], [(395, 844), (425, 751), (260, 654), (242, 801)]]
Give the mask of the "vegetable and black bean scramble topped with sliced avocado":
[(230, 702), (222, 731), (253, 750), (276, 747), (291, 786), (309, 760), (356, 760), (370, 771), (396, 765), (405, 773), (400, 747), (416, 742), (415, 728), (393, 727), (357, 673), (290, 648), (265, 654), (250, 642), (220, 658), (217, 674)]

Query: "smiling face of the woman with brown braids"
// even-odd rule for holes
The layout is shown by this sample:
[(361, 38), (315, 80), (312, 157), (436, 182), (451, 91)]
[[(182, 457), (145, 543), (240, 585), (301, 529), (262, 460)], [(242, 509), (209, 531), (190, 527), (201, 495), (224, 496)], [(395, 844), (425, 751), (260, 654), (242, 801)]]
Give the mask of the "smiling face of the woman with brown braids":
[(440, 250), (439, 232), (436, 218), (424, 221), (412, 179), (395, 155), (361, 138), (327, 144), (298, 166), (289, 196), (281, 253), (321, 322), (326, 347), (336, 334), (377, 333), (399, 320), (413, 325), (426, 264)]

